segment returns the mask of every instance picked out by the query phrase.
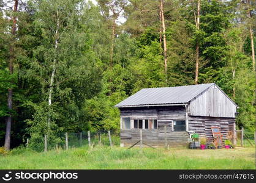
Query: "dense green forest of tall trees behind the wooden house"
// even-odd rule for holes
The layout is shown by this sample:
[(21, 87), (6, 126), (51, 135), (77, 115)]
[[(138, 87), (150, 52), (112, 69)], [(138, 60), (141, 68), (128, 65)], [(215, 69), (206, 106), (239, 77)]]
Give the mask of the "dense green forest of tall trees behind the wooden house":
[(118, 132), (141, 88), (211, 82), (253, 135), (255, 2), (0, 0), (0, 146)]

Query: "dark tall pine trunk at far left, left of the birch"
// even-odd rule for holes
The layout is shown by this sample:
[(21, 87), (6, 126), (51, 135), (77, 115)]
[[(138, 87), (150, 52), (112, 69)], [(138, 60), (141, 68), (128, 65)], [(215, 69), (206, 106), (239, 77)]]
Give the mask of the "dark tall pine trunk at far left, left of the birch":
[[(13, 13), (16, 13), (18, 10), (18, 0), (14, 0), (14, 5), (13, 5)], [(17, 17), (16, 15), (12, 16), (12, 36), (13, 36), (13, 42), (14, 36), (16, 34), (16, 26), (17, 26)], [(14, 60), (14, 48), (13, 44), (10, 45), (10, 58), (9, 58), (9, 72), (10, 74), (13, 74), (13, 60)], [(8, 88), (8, 96), (7, 96), (7, 105), (8, 109), (12, 110), (12, 88)], [(6, 138), (4, 141), (4, 149), (6, 151), (10, 150), (10, 132), (12, 128), (12, 114), (10, 113), (9, 117), (7, 117), (6, 121)]]

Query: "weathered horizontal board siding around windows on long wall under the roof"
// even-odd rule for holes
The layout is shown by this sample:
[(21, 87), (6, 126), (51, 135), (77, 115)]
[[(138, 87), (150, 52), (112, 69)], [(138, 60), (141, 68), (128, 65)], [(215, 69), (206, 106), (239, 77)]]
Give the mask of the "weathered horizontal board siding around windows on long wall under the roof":
[[(184, 106), (168, 107), (132, 107), (120, 109), (121, 118), (154, 118), (157, 129), (141, 129), (143, 142), (151, 146), (164, 146), (164, 127), (167, 126), (167, 145), (187, 146), (187, 132), (173, 132), (172, 120), (186, 120)], [(140, 129), (121, 129), (121, 143), (125, 146), (133, 145), (140, 140)]]

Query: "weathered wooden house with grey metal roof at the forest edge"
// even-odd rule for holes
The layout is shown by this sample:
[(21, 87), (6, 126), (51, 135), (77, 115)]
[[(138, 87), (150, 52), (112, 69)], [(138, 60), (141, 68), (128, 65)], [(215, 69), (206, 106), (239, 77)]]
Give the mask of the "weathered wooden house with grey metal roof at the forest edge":
[[(187, 146), (197, 133), (213, 142), (212, 126), (220, 127), (222, 139), (235, 134), (238, 106), (216, 84), (144, 88), (119, 104), (121, 146), (140, 140), (152, 146)], [(166, 127), (165, 127), (166, 126)]]

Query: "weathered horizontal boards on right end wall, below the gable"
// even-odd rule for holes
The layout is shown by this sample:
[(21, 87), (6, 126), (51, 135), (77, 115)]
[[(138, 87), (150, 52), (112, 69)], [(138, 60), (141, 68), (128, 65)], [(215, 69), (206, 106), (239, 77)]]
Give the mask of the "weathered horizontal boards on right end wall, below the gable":
[(235, 118), (219, 118), (219, 117), (194, 117), (189, 116), (189, 131), (193, 131), (201, 136), (208, 138), (208, 143), (213, 142), (212, 126), (220, 127), (223, 135), (222, 139), (228, 138), (228, 131), (234, 131), (233, 127)]

